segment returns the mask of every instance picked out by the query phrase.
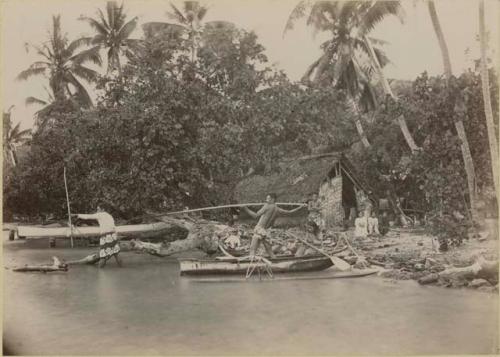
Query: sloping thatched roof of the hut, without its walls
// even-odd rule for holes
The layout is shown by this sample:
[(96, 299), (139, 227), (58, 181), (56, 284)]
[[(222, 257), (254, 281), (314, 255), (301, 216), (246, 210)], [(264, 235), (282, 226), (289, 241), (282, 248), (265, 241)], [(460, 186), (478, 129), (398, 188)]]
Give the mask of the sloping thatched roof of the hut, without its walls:
[(270, 175), (247, 177), (236, 186), (235, 198), (238, 202), (262, 202), (269, 192), (274, 192), (278, 201), (304, 202), (312, 192), (318, 192), (322, 181), (339, 161), (354, 184), (367, 192), (348, 160), (341, 153), (329, 153), (290, 160), (280, 165), (280, 172)]

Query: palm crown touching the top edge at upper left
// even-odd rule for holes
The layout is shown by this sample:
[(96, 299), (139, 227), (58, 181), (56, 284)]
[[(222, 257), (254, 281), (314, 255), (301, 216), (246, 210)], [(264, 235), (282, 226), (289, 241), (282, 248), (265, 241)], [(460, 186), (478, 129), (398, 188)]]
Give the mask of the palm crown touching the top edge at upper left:
[(97, 16), (97, 19), (80, 17), (80, 20), (86, 21), (97, 32), (94, 37), (87, 38), (87, 40), (93, 45), (99, 45), (108, 50), (108, 74), (113, 70), (121, 72), (120, 55), (125, 49), (135, 49), (139, 44), (139, 40), (129, 38), (137, 27), (138, 17), (127, 21), (123, 4), (119, 6), (116, 1), (106, 3), (106, 16), (100, 9), (97, 10)]

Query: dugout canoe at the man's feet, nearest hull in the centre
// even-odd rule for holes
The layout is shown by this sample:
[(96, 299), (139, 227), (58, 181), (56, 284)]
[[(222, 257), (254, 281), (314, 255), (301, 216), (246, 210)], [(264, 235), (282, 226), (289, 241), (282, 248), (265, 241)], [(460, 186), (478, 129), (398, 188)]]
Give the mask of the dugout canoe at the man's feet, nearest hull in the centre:
[(276, 257), (265, 262), (251, 262), (249, 259), (224, 257), (218, 259), (178, 259), (181, 275), (245, 275), (249, 267), (270, 267), (273, 274), (320, 271), (332, 266), (330, 258), (325, 256)]

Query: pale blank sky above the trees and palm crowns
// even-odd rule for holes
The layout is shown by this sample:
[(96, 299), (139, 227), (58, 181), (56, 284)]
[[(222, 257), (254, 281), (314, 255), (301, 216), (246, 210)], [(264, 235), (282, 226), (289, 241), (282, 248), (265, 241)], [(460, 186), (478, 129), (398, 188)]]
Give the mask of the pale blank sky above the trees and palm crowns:
[[(283, 29), (297, 0), (207, 0), (209, 11), (205, 21), (225, 20), (248, 31), (254, 31), (266, 48), (269, 63), (284, 70), (292, 80), (299, 80), (309, 64), (319, 55), (319, 44), (325, 35), (313, 36), (305, 20), (298, 21), (292, 31), (283, 36)], [(181, 1), (172, 1), (182, 7)], [(33, 114), (40, 109), (26, 106), (25, 98), (47, 98), (44, 78), (18, 81), (16, 76), (38, 58), (26, 44), (41, 44), (48, 38), (51, 17), (61, 14), (63, 31), (70, 40), (81, 35), (92, 35), (88, 24), (79, 21), (80, 15), (93, 16), (97, 8), (104, 8), (101, 0), (3, 0), (1, 37), (2, 107), (11, 105), (12, 119), (21, 122), (21, 128), (33, 126)], [(443, 72), (441, 52), (432, 28), (425, 0), (403, 0), (406, 19), (401, 24), (396, 18), (387, 18), (372, 32), (373, 37), (388, 41), (384, 46), (392, 64), (385, 68), (388, 78), (414, 79), (427, 71), (431, 75)], [(478, 1), (435, 0), (436, 9), (448, 44), (453, 72), (459, 74), (473, 67), (472, 60), (479, 58), (477, 34)], [(486, 27), (490, 33), (489, 55), (497, 60), (500, 38), (500, 5), (496, 0), (486, 0)], [(139, 25), (149, 21), (169, 20), (170, 9), (166, 0), (124, 0), (129, 16), (139, 16)], [(131, 38), (140, 38), (140, 26)], [(103, 53), (104, 56), (104, 53)], [(496, 61), (495, 63), (498, 63)]]

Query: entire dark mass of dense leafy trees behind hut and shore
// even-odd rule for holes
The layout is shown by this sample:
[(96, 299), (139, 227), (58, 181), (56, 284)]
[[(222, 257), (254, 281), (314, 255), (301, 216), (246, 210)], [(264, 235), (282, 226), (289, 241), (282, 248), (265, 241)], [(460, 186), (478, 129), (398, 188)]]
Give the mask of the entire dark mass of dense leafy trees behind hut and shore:
[[(283, 158), (344, 151), (376, 197), (426, 219), (446, 246), (473, 224), (457, 118), (475, 166), (478, 209), (494, 211), (479, 73), (449, 80), (423, 73), (393, 85), (397, 98), (374, 87), (378, 106), (353, 111), (360, 93), (346, 92), (346, 83), (293, 83), (268, 64), (255, 33), (226, 22), (201, 25), (206, 9), (197, 9), (196, 26), (189, 25), (194, 17), (186, 17), (189, 26), (145, 24), (144, 37), (124, 51), (126, 64), (115, 61), (119, 71), (100, 77), (95, 106), (80, 105), (71, 92), (38, 112), (29, 154), (4, 169), (4, 217), (64, 217), (64, 168), (74, 211), (104, 201), (129, 219), (229, 203), (239, 180), (275, 170)], [(496, 73), (490, 78), (497, 109)], [(397, 118), (421, 150), (410, 152)]]

